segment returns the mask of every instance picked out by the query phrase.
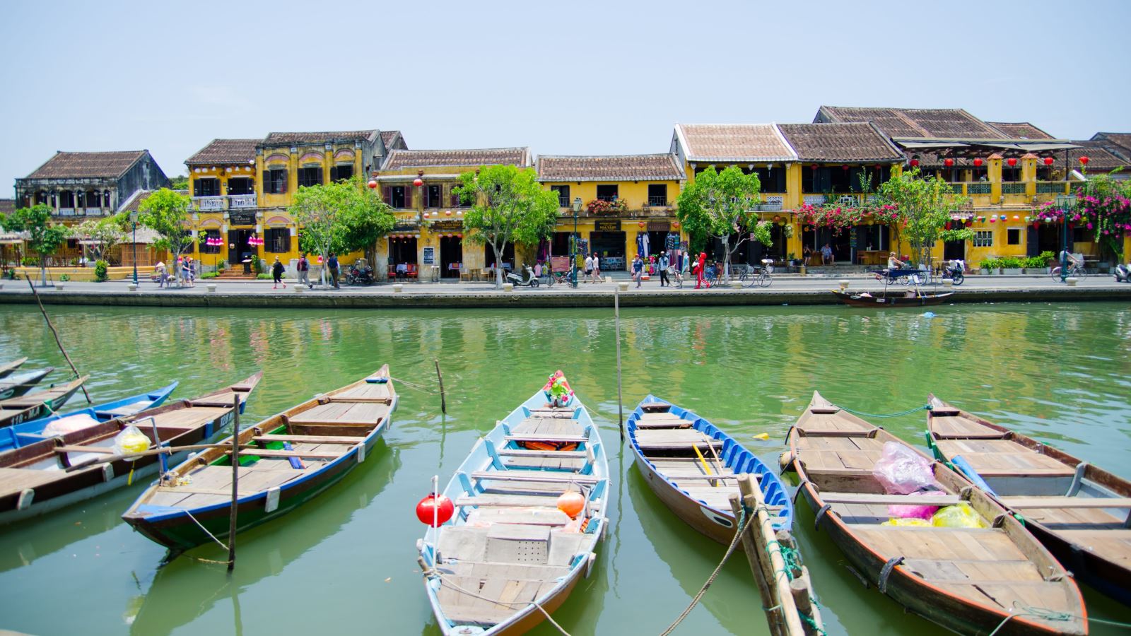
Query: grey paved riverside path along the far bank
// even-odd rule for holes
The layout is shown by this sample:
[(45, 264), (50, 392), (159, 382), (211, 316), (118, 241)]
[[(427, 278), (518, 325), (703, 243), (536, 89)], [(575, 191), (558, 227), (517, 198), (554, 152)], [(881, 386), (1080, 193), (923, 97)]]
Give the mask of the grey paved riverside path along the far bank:
[[(883, 284), (871, 274), (809, 275), (776, 274), (769, 287), (694, 289), (694, 281), (683, 289), (661, 287), (659, 277), (645, 281), (636, 289), (623, 273), (613, 273), (612, 282), (569, 285), (542, 285), (538, 289), (516, 287), (498, 290), (493, 282), (441, 281), (411, 282), (403, 291), (394, 291), (392, 283), (371, 286), (342, 285), (340, 290), (303, 287), (295, 292), (295, 283), (287, 281), (286, 289), (271, 289), (271, 281), (198, 281), (196, 287), (161, 289), (143, 281), (137, 291), (129, 291), (129, 281), (106, 283), (67, 282), (62, 290), (37, 287), (44, 303), (51, 304), (114, 304), (150, 307), (310, 307), (310, 308), (422, 308), (422, 307), (606, 307), (612, 304), (619, 282), (628, 282), (629, 290), (621, 294), (625, 307), (646, 306), (741, 306), (741, 304), (838, 304), (828, 290), (837, 289), (839, 281), (848, 281), (849, 291), (881, 291)], [(0, 303), (35, 302), (25, 281), (2, 281)], [(208, 285), (216, 290), (209, 291)], [(891, 285), (889, 290), (906, 291), (910, 287)], [(953, 302), (1072, 302), (1085, 300), (1131, 301), (1131, 284), (1116, 283), (1112, 275), (1079, 277), (1070, 287), (1048, 275), (1028, 276), (967, 276), (958, 287), (942, 284), (923, 285), (930, 291), (953, 291)]]

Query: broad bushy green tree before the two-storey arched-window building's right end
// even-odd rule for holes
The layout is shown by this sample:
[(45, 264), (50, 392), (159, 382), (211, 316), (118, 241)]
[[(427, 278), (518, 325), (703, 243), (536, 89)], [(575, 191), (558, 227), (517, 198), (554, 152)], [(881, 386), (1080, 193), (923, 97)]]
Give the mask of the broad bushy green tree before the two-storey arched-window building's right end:
[(290, 210), (302, 225), (299, 249), (321, 256), (322, 263), (331, 253), (371, 251), (396, 223), (389, 206), (356, 175), (348, 181), (299, 188)]

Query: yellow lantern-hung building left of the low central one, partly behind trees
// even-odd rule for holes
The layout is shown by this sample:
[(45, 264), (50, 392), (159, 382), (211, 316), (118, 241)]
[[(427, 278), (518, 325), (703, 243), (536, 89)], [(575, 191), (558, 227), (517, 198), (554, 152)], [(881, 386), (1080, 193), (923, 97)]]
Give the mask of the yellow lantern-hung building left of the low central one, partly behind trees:
[[(493, 263), (490, 247), (464, 244), (464, 205), (452, 190), (460, 175), (484, 165), (530, 165), (529, 148), (469, 148), (409, 151), (394, 148), (380, 170), (371, 173), (385, 203), (392, 207), (397, 224), (391, 234), (378, 241), (378, 278), (390, 275), (421, 278), (459, 278), (465, 273), (482, 272)], [(523, 256), (521, 247), (519, 257)], [(515, 246), (508, 246), (503, 259), (511, 267)]]

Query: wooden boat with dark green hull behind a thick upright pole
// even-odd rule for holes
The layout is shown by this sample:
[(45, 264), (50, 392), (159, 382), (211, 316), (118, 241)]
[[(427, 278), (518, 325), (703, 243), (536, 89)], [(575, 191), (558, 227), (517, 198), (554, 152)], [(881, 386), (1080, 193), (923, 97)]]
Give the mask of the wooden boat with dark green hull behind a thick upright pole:
[[(280, 517), (365, 461), (390, 426), (397, 394), (389, 366), (258, 424), (240, 427), (236, 532)], [(228, 534), (232, 436), (154, 482), (122, 518), (182, 551)]]

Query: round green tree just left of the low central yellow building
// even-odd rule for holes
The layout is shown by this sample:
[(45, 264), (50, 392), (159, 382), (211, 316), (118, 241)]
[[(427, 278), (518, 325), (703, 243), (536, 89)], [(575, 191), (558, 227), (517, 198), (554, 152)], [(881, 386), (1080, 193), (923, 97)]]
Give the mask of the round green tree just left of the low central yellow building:
[(543, 190), (533, 169), (487, 165), (465, 172), (456, 194), (472, 209), (464, 213), (464, 242), (491, 246), (495, 286), (502, 286), (502, 252), (508, 243), (549, 239), (558, 222), (558, 192)]

